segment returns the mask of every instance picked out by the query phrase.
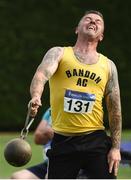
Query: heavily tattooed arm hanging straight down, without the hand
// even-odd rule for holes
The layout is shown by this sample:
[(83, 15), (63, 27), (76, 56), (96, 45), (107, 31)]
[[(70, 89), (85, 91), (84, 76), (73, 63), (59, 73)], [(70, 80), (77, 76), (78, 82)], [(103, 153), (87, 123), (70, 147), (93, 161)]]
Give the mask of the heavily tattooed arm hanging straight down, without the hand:
[(112, 61), (110, 61), (110, 65), (111, 65), (110, 78), (106, 86), (105, 98), (108, 109), (112, 147), (119, 149), (120, 141), (121, 141), (121, 127), (122, 127), (120, 90), (119, 90), (118, 74), (117, 74), (116, 66)]

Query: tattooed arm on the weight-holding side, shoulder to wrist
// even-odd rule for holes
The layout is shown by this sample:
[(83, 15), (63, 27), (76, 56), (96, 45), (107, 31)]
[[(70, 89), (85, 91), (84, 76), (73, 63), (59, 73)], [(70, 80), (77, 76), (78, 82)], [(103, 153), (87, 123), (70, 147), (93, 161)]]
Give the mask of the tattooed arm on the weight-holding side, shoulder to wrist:
[(56, 72), (62, 54), (63, 48), (61, 47), (54, 47), (45, 54), (31, 82), (30, 93), (32, 98), (41, 98), (44, 85)]

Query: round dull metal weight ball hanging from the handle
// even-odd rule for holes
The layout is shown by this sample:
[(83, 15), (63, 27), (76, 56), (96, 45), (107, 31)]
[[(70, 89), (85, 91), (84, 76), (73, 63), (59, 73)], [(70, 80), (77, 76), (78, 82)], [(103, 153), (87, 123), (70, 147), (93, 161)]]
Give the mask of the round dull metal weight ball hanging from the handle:
[(32, 150), (27, 141), (22, 138), (15, 138), (9, 141), (4, 149), (6, 161), (15, 167), (27, 164), (32, 156)]

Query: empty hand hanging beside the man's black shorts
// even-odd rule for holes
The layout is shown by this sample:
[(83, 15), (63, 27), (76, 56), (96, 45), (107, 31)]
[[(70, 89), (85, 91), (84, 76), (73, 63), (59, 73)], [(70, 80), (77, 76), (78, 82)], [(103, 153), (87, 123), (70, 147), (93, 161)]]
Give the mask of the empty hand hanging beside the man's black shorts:
[(112, 173), (112, 171), (114, 170), (114, 175), (117, 176), (119, 163), (121, 160), (120, 149), (111, 148), (107, 158), (109, 164), (109, 172)]

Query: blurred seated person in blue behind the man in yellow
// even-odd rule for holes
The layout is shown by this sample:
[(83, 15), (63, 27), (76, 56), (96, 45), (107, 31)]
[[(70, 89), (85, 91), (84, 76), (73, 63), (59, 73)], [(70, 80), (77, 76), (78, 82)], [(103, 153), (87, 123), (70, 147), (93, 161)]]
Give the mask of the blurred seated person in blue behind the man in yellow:
[(38, 145), (44, 144), (44, 162), (27, 169), (14, 172), (11, 179), (45, 179), (48, 161), (45, 153), (50, 148), (50, 140), (52, 139), (54, 133), (50, 125), (51, 112), (50, 108), (48, 108), (34, 133), (35, 143)]

